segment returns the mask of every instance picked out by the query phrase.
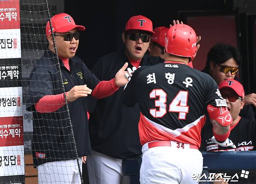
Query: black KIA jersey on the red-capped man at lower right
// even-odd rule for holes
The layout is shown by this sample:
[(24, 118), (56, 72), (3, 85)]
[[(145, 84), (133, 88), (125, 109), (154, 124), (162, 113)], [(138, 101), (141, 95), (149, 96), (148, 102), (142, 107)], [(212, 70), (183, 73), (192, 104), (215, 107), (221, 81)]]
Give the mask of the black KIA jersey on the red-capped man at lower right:
[(256, 122), (241, 118), (239, 122), (231, 127), (230, 136), (228, 137), (237, 148), (222, 147), (211, 141), (212, 124), (207, 121), (203, 127), (201, 137), (202, 143), (200, 151), (249, 151), (256, 150)]

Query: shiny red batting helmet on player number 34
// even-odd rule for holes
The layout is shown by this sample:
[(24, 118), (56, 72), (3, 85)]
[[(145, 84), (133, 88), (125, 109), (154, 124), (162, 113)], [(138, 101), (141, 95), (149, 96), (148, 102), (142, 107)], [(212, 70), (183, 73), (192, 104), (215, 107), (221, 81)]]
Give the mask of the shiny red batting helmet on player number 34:
[(196, 33), (186, 24), (172, 26), (165, 38), (166, 52), (183, 57), (193, 57), (197, 51)]

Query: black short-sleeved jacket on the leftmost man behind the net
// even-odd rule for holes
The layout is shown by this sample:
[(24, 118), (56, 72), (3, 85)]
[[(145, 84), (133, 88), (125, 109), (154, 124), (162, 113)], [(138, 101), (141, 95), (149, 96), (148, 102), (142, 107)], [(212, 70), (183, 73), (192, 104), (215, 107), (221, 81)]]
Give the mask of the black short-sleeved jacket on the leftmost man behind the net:
[(75, 159), (73, 132), (79, 157), (89, 155), (91, 149), (86, 97), (77, 98), (68, 103), (68, 108), (64, 105), (56, 112), (39, 113), (35, 109), (34, 105), (43, 96), (63, 93), (63, 85), (65, 91), (84, 84), (94, 89), (100, 82), (81, 58), (74, 56), (69, 59), (70, 71), (66, 69), (60, 58), (59, 61), (63, 81), (60, 78), (57, 57), (50, 50), (37, 61), (30, 74), (26, 109), (33, 112), (32, 152), (35, 166), (45, 162)]

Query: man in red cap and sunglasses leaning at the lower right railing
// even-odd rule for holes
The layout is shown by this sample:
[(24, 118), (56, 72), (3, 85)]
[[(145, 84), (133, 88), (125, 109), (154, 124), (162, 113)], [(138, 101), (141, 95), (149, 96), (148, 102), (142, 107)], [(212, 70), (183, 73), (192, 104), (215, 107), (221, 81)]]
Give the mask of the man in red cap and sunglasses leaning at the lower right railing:
[(202, 129), (202, 142), (200, 151), (250, 151), (256, 150), (256, 122), (248, 120), (239, 115), (243, 109), (244, 88), (241, 83), (234, 79), (227, 79), (219, 83), (221, 96), (226, 99), (228, 110), (233, 119), (230, 125), (229, 138), (237, 148), (220, 146), (210, 139), (212, 138), (212, 125), (209, 123)]

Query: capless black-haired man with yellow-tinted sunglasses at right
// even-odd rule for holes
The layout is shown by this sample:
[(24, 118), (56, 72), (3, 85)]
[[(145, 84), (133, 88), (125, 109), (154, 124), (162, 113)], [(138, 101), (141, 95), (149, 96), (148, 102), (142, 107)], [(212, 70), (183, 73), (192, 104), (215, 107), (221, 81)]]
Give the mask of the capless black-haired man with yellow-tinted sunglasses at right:
[[(202, 72), (209, 74), (217, 84), (226, 79), (236, 79), (239, 66), (242, 63), (240, 52), (234, 46), (217, 43), (207, 54), (206, 66)], [(245, 95), (245, 106), (240, 116), (254, 120), (251, 104), (256, 106), (256, 94)]]

